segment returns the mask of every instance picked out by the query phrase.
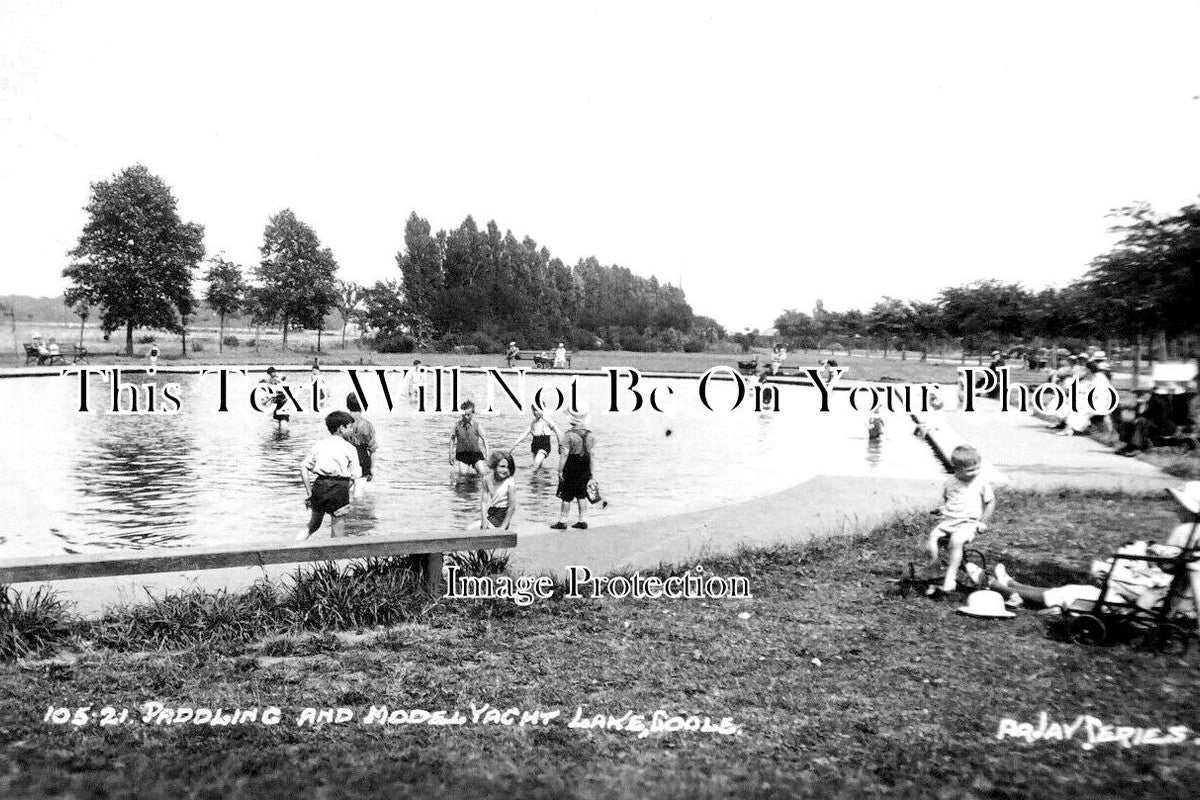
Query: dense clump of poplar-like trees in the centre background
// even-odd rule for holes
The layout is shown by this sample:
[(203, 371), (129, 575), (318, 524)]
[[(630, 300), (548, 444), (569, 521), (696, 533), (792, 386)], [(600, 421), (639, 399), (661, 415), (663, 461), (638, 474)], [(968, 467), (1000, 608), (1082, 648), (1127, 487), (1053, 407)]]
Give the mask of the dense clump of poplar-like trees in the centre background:
[(595, 258), (568, 266), (528, 236), (502, 234), (496, 222), (480, 229), (467, 217), (434, 234), (414, 212), (396, 266), (398, 279), (364, 290), (364, 319), (378, 338), (421, 349), (563, 341), (571, 349), (702, 350), (725, 333), (697, 318), (678, 287)]

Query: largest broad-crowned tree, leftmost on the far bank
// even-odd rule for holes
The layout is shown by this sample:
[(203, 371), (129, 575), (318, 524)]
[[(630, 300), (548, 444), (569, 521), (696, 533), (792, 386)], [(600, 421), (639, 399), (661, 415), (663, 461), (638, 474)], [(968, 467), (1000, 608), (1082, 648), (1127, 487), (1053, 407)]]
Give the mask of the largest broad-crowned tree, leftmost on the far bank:
[(72, 285), (64, 302), (101, 308), (106, 333), (125, 326), (181, 332), (192, 313), (192, 271), (204, 258), (204, 228), (184, 222), (170, 187), (140, 164), (91, 185), (88, 223), (62, 270)]

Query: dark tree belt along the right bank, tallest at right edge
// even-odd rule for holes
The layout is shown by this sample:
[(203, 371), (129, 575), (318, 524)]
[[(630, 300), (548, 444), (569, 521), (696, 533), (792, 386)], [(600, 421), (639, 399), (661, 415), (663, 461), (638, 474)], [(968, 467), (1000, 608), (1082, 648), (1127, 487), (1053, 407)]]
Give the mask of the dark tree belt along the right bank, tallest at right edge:
[(1159, 355), (1188, 355), (1200, 332), (1200, 207), (1164, 217), (1138, 205), (1114, 215), (1121, 241), (1064, 288), (979, 281), (943, 289), (928, 302), (883, 297), (865, 312), (828, 312), (817, 301), (811, 314), (782, 312), (775, 329), (800, 347), (848, 348), (865, 338), (884, 355), (892, 348), (926, 354), (949, 342), (974, 351), (1154, 343)]

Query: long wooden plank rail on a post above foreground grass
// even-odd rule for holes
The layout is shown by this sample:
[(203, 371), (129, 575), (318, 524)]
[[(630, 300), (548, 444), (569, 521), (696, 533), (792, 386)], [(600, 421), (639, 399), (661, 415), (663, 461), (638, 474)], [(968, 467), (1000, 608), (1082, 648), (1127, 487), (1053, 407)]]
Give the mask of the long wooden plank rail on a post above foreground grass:
[(426, 588), (442, 594), (442, 554), (516, 547), (517, 535), (509, 531), (481, 531), (455, 536), (420, 539), (378, 539), (352, 536), (319, 542), (260, 542), (259, 546), (232, 545), (150, 553), (78, 553), (0, 561), (0, 584), (35, 581), (71, 581), (154, 572), (190, 572), (227, 567), (337, 561), (342, 559), (424, 555)]

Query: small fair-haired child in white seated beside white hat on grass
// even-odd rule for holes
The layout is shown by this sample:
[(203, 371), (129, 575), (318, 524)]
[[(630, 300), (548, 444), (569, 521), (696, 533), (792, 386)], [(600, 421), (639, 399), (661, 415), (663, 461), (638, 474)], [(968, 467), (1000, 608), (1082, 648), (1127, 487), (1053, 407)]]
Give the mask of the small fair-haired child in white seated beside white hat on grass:
[[(948, 540), (949, 563), (946, 565), (946, 578), (942, 591), (954, 591), (958, 588), (955, 576), (962, 564), (962, 548), (974, 540), (976, 534), (988, 530), (988, 519), (996, 509), (996, 493), (979, 473), (982, 459), (979, 451), (968, 445), (959, 445), (950, 453), (950, 467), (954, 475), (946, 479), (942, 489), (942, 522), (929, 534), (926, 549), (930, 566), (937, 564), (937, 545), (942, 537)], [(930, 587), (929, 594), (936, 596), (937, 587)]]

